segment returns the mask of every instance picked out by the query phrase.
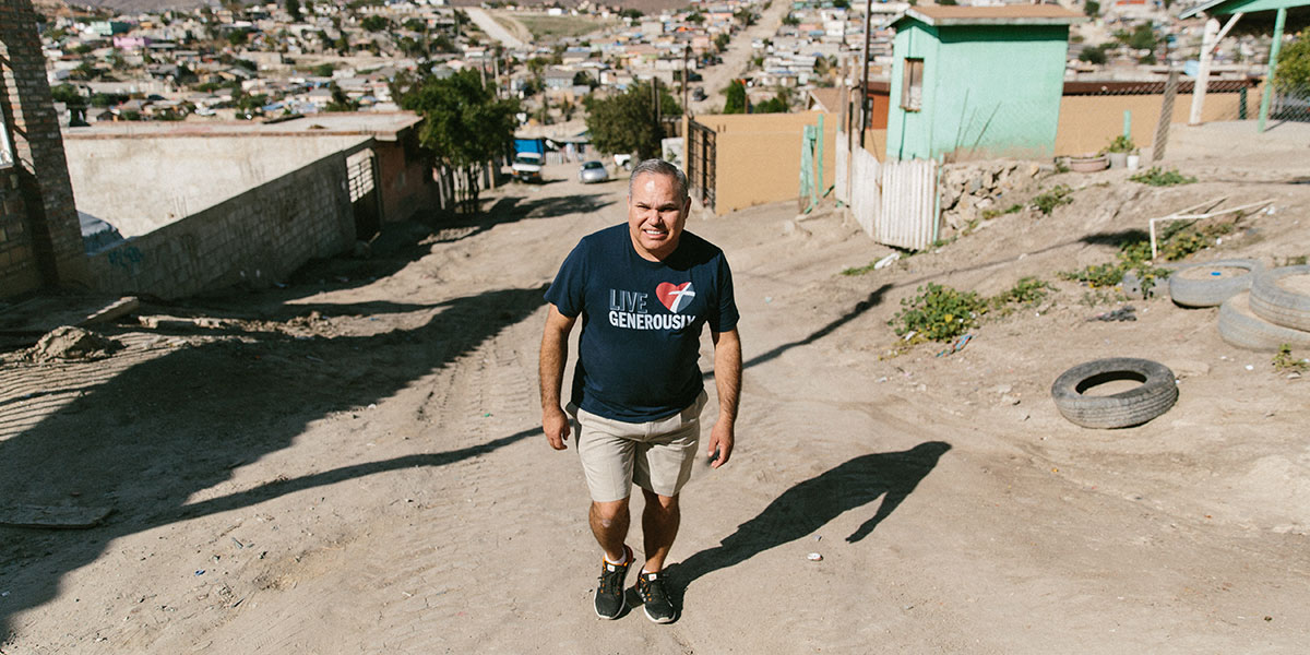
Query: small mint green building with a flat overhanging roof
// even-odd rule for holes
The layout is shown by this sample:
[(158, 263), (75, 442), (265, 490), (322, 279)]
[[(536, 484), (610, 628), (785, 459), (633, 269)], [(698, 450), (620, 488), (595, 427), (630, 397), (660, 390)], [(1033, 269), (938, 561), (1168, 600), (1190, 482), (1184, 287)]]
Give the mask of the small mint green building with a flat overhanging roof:
[(914, 7), (892, 21), (887, 159), (1055, 156), (1069, 25), (1056, 5)]

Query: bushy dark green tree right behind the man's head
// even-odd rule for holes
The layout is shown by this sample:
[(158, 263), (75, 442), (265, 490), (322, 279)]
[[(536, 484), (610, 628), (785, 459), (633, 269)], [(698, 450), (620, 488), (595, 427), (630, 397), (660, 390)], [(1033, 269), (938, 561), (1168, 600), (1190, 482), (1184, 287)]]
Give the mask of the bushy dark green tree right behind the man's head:
[[(634, 84), (626, 93), (608, 98), (584, 100), (587, 130), (591, 143), (600, 152), (635, 152), (639, 159), (655, 157), (660, 152), (664, 128), (655, 121), (655, 105), (650, 84)], [(683, 113), (667, 89), (659, 89), (660, 114), (672, 117)]]

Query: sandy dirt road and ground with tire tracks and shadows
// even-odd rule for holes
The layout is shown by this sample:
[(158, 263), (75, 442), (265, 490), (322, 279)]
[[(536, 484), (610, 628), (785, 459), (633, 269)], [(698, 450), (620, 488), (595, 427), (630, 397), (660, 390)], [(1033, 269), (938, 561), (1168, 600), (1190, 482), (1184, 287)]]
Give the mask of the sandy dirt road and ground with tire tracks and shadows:
[[(745, 373), (732, 461), (684, 495), (668, 626), (593, 614), (575, 451), (538, 428), (544, 286), (622, 220), (622, 181), (553, 168), (286, 288), (148, 303), (102, 330), (111, 356), (4, 355), (0, 504), (114, 512), (0, 528), (0, 652), (1303, 652), (1305, 377), (1225, 345), (1216, 309), (1087, 321), (1123, 303), (1070, 282), (952, 355), (887, 325), (926, 282), (1055, 280), (1217, 195), (1276, 211), (1193, 259), (1310, 254), (1310, 140), (1256, 157), (1225, 138), (1192, 140), (1231, 161), (1179, 135), (1196, 185), (1058, 176), (1078, 191), (1052, 216), (859, 276), (840, 271), (889, 250), (838, 208), (693, 216), (732, 262)], [(1178, 403), (1066, 422), (1051, 383), (1103, 356), (1169, 364)]]

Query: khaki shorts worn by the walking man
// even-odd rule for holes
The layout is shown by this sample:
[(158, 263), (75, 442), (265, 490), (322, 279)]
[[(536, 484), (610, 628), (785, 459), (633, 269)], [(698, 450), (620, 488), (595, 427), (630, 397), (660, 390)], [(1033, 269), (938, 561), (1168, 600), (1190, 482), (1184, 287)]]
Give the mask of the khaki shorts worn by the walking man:
[(597, 417), (569, 403), (565, 410), (574, 418), (578, 457), (591, 499), (622, 500), (631, 495), (633, 482), (659, 495), (677, 495), (692, 477), (701, 441), (701, 410), (707, 400), (701, 392), (685, 410), (646, 423)]

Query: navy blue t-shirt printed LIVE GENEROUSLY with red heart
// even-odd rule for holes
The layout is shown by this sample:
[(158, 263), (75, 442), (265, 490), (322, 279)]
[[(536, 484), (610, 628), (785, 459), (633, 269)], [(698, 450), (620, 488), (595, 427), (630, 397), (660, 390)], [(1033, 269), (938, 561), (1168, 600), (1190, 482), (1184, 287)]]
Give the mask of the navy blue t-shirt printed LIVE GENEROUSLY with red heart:
[(614, 421), (673, 415), (705, 388), (701, 331), (736, 328), (732, 272), (723, 250), (683, 232), (663, 262), (637, 254), (627, 224), (583, 237), (559, 267), (546, 301), (582, 316), (572, 402)]

